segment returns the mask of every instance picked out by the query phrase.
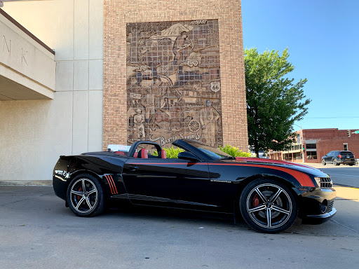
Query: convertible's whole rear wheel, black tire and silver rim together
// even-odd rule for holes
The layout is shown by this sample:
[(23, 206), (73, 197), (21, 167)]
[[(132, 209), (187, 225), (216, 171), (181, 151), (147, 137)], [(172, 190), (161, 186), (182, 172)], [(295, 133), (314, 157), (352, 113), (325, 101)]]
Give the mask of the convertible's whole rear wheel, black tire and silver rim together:
[(96, 216), (104, 212), (104, 191), (100, 181), (90, 174), (74, 177), (67, 188), (67, 203), (77, 216)]

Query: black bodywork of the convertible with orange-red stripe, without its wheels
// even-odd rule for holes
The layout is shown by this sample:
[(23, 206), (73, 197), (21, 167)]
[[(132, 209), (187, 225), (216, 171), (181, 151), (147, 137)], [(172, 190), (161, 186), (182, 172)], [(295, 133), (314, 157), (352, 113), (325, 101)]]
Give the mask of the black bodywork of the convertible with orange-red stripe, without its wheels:
[[(330, 177), (324, 172), (306, 165), (266, 159), (216, 160), (189, 142), (177, 140), (173, 144), (196, 156), (198, 161), (161, 156), (134, 158), (137, 146), (147, 142), (136, 142), (126, 155), (99, 152), (60, 156), (53, 170), (55, 194), (66, 201), (72, 179), (79, 174), (91, 174), (100, 181), (107, 200), (125, 199), (136, 205), (233, 214), (243, 188), (264, 178), (290, 188), (302, 219), (318, 222), (334, 215), (334, 207), (327, 207), (323, 212), (323, 202), (331, 203), (335, 198)], [(161, 151), (159, 144), (149, 144)], [(315, 178), (328, 179), (330, 185), (321, 188)]]

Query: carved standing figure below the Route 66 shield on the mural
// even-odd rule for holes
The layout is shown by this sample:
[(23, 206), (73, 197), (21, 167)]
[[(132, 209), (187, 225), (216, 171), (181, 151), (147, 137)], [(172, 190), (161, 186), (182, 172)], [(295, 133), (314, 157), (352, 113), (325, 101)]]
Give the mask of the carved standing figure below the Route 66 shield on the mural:
[(210, 100), (207, 100), (205, 108), (200, 111), (200, 122), (202, 125), (202, 137), (205, 143), (210, 146), (215, 146), (215, 128), (219, 118), (219, 113), (211, 106)]

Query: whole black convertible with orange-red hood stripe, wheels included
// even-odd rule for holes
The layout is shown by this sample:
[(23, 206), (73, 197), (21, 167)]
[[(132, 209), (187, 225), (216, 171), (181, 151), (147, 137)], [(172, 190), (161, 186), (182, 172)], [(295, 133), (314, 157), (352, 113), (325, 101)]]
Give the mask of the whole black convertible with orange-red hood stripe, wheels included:
[(177, 159), (166, 158), (159, 144), (144, 141), (128, 152), (60, 156), (53, 188), (77, 216), (101, 214), (107, 202), (124, 199), (135, 205), (241, 214), (262, 233), (280, 233), (297, 216), (323, 223), (337, 212), (330, 176), (313, 167), (233, 158), (188, 139), (172, 144), (184, 150)]

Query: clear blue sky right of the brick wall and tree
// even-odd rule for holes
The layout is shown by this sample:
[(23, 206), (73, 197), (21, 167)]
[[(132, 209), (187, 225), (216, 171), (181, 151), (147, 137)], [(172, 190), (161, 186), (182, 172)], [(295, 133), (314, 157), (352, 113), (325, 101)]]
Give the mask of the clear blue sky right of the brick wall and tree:
[(297, 125), (359, 130), (359, 1), (242, 0), (242, 16), (244, 48), (288, 48), (289, 77), (308, 79)]

